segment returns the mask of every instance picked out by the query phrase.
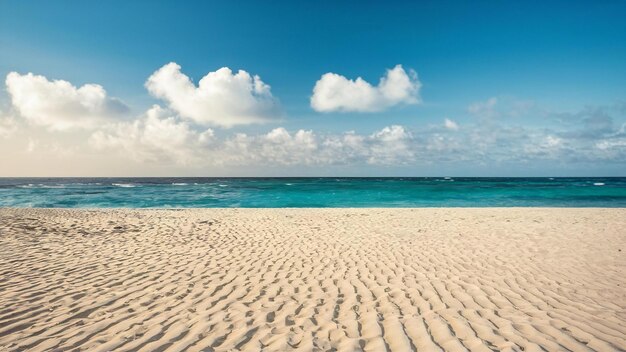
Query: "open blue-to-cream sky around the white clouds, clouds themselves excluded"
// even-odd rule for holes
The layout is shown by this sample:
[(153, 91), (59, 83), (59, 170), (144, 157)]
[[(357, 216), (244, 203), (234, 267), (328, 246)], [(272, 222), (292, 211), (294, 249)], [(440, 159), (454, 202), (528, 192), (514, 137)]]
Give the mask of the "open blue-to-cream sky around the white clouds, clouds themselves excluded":
[[(33, 123), (41, 119), (25, 113), (25, 108), (14, 102), (15, 94), (6, 89), (0, 93), (0, 110), (11, 122), (10, 126), (5, 123), (9, 126), (5, 130), (10, 131), (2, 137), (2, 158), (15, 165), (13, 171), (3, 172), (248, 175), (258, 170), (274, 174), (280, 166), (281, 172), (289, 174), (623, 175), (624, 18), (623, 1), (0, 1), (1, 76), (32, 72), (50, 82), (64, 80), (75, 87), (98, 84), (108, 97), (123, 102), (128, 111), (119, 118), (128, 124), (159, 104), (172, 110), (172, 116), (163, 112), (159, 115), (162, 118), (168, 115), (193, 133), (210, 128), (220, 140), (220, 145), (199, 154), (215, 149), (232, 154), (222, 144), (235, 134), (256, 138), (281, 127), (291, 137), (300, 129), (313, 131), (317, 144), (307, 149), (311, 153), (321, 153), (319, 145), (329, 136), (342, 136), (347, 131), (371, 137), (397, 125), (403, 128), (400, 137), (411, 135), (411, 142), (402, 148), (388, 146), (384, 160), (374, 158), (377, 152), (372, 150), (363, 151), (360, 158), (346, 157), (343, 147), (342, 152), (325, 150), (328, 155), (311, 159), (304, 155), (301, 145), (290, 144), (282, 145), (280, 151), (301, 153), (302, 160), (287, 163), (254, 156), (261, 168), (250, 167), (249, 160), (239, 164), (232, 160), (198, 161), (202, 155), (179, 162), (176, 159), (182, 154), (178, 151), (154, 147), (149, 153), (137, 153), (141, 155), (122, 161), (125, 155), (145, 146), (126, 141), (81, 152), (93, 147), (88, 141), (94, 140), (91, 137), (95, 133), (127, 135), (120, 132), (122, 127), (115, 132), (81, 128), (64, 134), (50, 124)], [(226, 128), (213, 120), (198, 123), (197, 118), (172, 108), (171, 100), (159, 98), (145, 87), (148, 77), (170, 62), (178, 64), (196, 84), (221, 67), (258, 75), (271, 86), (276, 116), (267, 123), (237, 123)], [(398, 64), (407, 73), (417, 73), (419, 103), (390, 102), (373, 112), (320, 112), (311, 106), (313, 87), (323, 74), (335, 73), (348, 80), (362, 77), (375, 86), (386, 70)], [(491, 106), (490, 99), (495, 99)], [(480, 104), (482, 110), (477, 108)], [(593, 140), (574, 137), (590, 128), (589, 121), (607, 120), (605, 115), (610, 126), (598, 127)], [(445, 119), (458, 128), (439, 131), (437, 126)], [(481, 134), (497, 134), (494, 138), (506, 143), (482, 146), (485, 150), (480, 155), (472, 152), (477, 147), (462, 148), (482, 139)], [(447, 147), (424, 147), (441, 136)], [(361, 147), (379, 148), (374, 145), (380, 141), (370, 139), (368, 146)], [(560, 150), (531, 148), (545, 140), (553, 141), (548, 143), (552, 147), (559, 144)], [(81, 143), (85, 148), (72, 151)], [(256, 152), (250, 148), (264, 148), (262, 142), (249, 143), (248, 153)], [(604, 147), (597, 153), (591, 150), (599, 145)], [(47, 152), (54, 148), (71, 152), (55, 164), (65, 166), (39, 169), (38, 160), (47, 157), (33, 146), (46, 146), (43, 149)], [(124, 148), (134, 149), (129, 153)], [(198, 153), (195, 145), (187, 149)], [(394, 150), (396, 154), (391, 155)], [(572, 153), (575, 155), (570, 158)], [(67, 165), (76, 165), (77, 160), (82, 160), (84, 168), (72, 166), (67, 171)], [(130, 170), (129, 163), (133, 165)]]

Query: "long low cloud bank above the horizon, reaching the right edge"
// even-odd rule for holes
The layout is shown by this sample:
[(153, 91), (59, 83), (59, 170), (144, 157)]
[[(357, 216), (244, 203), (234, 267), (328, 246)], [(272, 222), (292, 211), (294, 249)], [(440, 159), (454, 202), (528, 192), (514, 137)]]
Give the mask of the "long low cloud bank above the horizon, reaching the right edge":
[(167, 161), (196, 167), (494, 165), (532, 161), (567, 164), (623, 162), (623, 130), (624, 126), (589, 139), (520, 126), (471, 124), (463, 127), (464, 133), (458, 133), (440, 126), (409, 131), (391, 125), (370, 134), (317, 134), (279, 127), (256, 135), (234, 133), (220, 137), (212, 130), (195, 131), (186, 122), (163, 115), (97, 132), (90, 141), (94, 147), (117, 150), (141, 162)]

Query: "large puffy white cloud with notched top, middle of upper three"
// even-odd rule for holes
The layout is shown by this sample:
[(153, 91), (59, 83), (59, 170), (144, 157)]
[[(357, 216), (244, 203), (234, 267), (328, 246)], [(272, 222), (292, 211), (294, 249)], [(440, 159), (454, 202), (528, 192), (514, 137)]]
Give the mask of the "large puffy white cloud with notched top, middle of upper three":
[(270, 86), (259, 76), (228, 67), (209, 72), (196, 87), (181, 67), (171, 62), (146, 81), (146, 88), (183, 118), (201, 125), (232, 127), (267, 122), (278, 114)]

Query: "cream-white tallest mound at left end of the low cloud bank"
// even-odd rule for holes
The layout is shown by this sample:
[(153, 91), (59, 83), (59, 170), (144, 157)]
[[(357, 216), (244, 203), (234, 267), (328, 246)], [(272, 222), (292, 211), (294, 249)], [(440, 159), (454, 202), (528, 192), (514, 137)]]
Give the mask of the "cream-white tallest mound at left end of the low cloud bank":
[(110, 125), (93, 133), (89, 143), (97, 150), (117, 149), (132, 159), (187, 165), (198, 161), (199, 150), (210, 145), (213, 130), (193, 130), (158, 105), (134, 122)]

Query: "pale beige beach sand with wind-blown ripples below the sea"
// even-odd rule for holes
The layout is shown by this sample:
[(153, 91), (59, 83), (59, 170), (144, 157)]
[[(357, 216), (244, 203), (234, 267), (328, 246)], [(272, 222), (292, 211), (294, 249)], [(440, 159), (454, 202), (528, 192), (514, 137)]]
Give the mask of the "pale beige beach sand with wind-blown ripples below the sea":
[(626, 209), (0, 209), (0, 248), (1, 351), (626, 349)]

